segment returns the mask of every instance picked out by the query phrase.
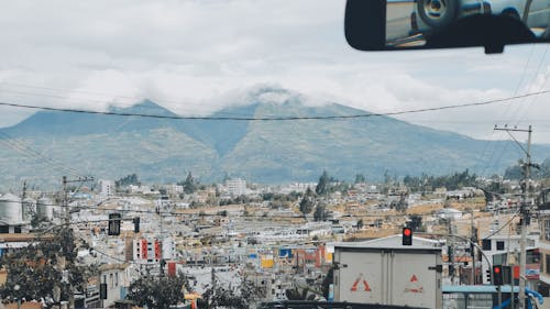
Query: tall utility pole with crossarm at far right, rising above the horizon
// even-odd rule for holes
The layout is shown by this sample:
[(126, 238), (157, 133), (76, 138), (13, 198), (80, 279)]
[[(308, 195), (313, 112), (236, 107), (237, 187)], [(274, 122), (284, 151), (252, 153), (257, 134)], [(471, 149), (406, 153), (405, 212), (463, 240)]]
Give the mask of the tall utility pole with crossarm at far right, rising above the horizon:
[[(506, 125), (504, 128), (497, 128), (495, 125), (495, 131), (505, 131), (508, 133), (508, 135), (512, 137), (514, 142), (525, 152), (527, 162), (524, 163), (524, 186), (521, 186), (521, 206), (520, 206), (520, 213), (521, 213), (521, 240), (520, 240), (520, 249), (519, 249), (519, 294), (518, 294), (518, 308), (524, 309), (525, 304), (526, 304), (526, 295), (525, 295), (525, 285), (526, 285), (526, 277), (525, 277), (525, 271), (526, 271), (526, 263), (527, 263), (527, 250), (526, 250), (526, 242), (527, 242), (527, 221), (529, 220), (529, 209), (527, 205), (527, 198), (529, 194), (529, 178), (531, 176), (531, 133), (532, 133), (532, 128), (529, 125), (529, 129), (517, 129), (516, 126), (514, 128), (507, 128)], [(510, 132), (522, 132), (527, 133), (527, 148), (519, 143), (516, 137)]]

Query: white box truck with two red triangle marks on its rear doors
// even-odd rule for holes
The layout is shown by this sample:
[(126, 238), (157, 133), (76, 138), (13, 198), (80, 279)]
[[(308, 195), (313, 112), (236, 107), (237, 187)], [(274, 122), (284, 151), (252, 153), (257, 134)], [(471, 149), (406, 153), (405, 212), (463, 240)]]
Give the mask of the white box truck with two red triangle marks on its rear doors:
[(334, 301), (442, 308), (441, 247), (395, 235), (334, 245)]

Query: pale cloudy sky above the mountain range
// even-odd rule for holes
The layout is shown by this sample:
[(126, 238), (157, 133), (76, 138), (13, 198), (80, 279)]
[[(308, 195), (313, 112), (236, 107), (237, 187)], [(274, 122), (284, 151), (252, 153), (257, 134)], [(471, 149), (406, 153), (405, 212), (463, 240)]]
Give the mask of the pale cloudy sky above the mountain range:
[[(106, 110), (148, 98), (183, 115), (262, 85), (371, 112), (483, 102), (550, 89), (548, 45), (360, 52), (344, 0), (0, 0), (0, 101)], [(402, 120), (475, 139), (532, 124), (550, 143), (549, 96)], [(0, 126), (31, 112), (0, 108)], [(525, 135), (518, 135), (525, 140)]]

